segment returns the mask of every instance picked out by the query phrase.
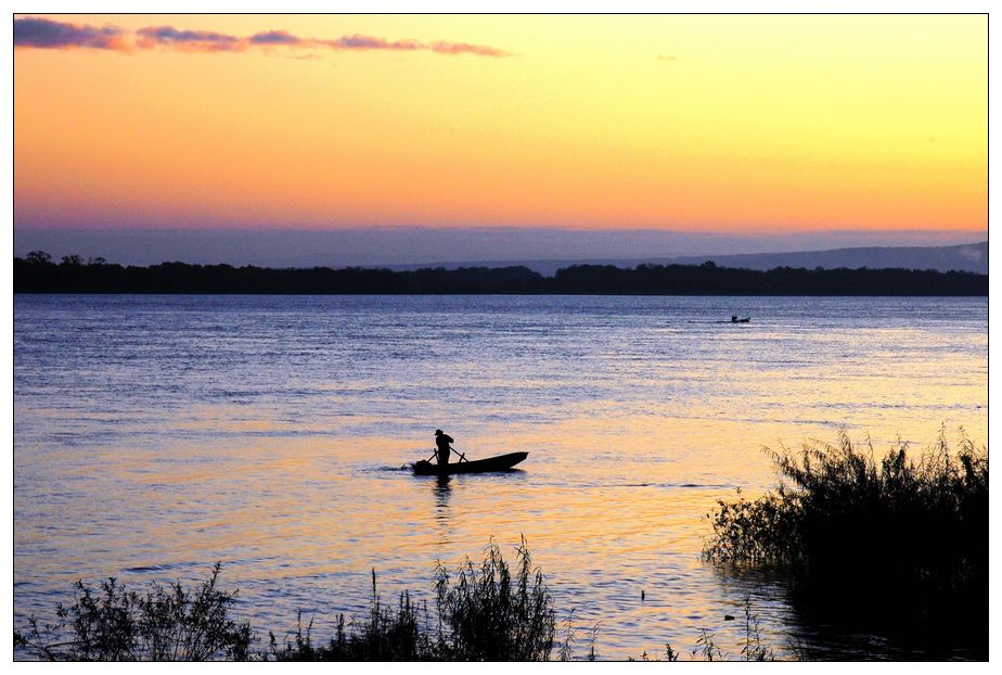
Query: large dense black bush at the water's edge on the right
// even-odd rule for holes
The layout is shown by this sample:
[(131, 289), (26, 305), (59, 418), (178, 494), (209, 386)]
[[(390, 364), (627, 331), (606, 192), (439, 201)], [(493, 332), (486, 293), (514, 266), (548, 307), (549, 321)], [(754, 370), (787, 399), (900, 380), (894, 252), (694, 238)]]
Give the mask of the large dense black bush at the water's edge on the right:
[(835, 444), (765, 449), (781, 484), (718, 502), (707, 559), (876, 588), (924, 611), (987, 608), (988, 450), (963, 430), (955, 449), (940, 430), (921, 453), (899, 441), (881, 458), (845, 433)]

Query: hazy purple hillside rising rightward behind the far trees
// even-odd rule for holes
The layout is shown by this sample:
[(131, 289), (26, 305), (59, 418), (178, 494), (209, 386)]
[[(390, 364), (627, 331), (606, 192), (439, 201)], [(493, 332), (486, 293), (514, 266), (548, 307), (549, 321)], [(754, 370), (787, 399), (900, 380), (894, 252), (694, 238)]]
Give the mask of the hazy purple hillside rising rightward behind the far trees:
[(834, 249), (831, 251), (801, 251), (796, 253), (748, 253), (731, 255), (690, 255), (659, 258), (591, 258), (552, 260), (477, 260), (463, 263), (438, 263), (421, 265), (391, 265), (390, 269), (413, 270), (426, 267), (528, 267), (541, 275), (553, 276), (557, 269), (571, 265), (615, 265), (637, 267), (638, 265), (698, 265), (712, 260), (720, 267), (769, 270), (776, 267), (804, 267), (814, 269), (870, 269), (903, 268), (935, 269), (937, 271), (968, 271), (988, 273), (988, 242), (961, 244), (958, 246), (869, 246), (858, 249)]

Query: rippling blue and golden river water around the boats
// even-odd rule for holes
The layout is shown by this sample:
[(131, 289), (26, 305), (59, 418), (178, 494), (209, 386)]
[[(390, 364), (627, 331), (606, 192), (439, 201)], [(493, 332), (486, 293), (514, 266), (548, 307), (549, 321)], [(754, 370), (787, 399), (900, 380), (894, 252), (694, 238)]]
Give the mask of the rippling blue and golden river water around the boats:
[[(525, 535), (604, 658), (685, 658), (701, 628), (737, 652), (749, 596), (779, 655), (900, 655), (703, 563), (705, 514), (772, 486), (779, 441), (987, 443), (987, 331), (985, 298), (18, 295), (15, 619), (221, 560), (259, 635), (303, 610), (326, 636), (372, 568), (431, 599), (436, 560)], [(439, 426), (524, 471), (401, 470)]]

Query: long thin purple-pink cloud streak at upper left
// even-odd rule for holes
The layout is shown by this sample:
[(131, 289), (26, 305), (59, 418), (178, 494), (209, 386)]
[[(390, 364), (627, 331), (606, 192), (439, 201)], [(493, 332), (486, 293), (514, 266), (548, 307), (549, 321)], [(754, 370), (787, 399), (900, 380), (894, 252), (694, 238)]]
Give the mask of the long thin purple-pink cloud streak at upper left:
[(151, 50), (188, 53), (243, 52), (254, 48), (313, 48), (335, 51), (426, 51), (437, 54), (510, 56), (496, 47), (465, 42), (421, 42), (387, 40), (367, 35), (346, 35), (334, 39), (303, 38), (287, 30), (266, 30), (240, 37), (211, 30), (181, 30), (171, 26), (151, 26), (130, 34), (115, 26), (95, 28), (48, 18), (15, 18), (14, 47), (36, 49)]

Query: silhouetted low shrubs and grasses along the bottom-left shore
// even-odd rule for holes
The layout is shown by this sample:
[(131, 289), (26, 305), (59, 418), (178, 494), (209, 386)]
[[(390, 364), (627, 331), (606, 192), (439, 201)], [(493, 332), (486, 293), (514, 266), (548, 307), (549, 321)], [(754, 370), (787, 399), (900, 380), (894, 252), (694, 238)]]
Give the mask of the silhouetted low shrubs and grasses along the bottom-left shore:
[(453, 572), (438, 564), (434, 615), (409, 593), (384, 603), (373, 571), (369, 612), (348, 623), (338, 615), (326, 640), (316, 640), (300, 615), (293, 633), (282, 640), (270, 633), (268, 649), (253, 650), (249, 624), (230, 616), (236, 593), (216, 588), (217, 563), (194, 594), (180, 582), (153, 584), (145, 595), (114, 578), (98, 589), (77, 582), (56, 624), (31, 617), (14, 642), (20, 653), (48, 661), (547, 661), (554, 648), (569, 659), (574, 632), (568, 627), (564, 644), (554, 639), (553, 598), (524, 538), (515, 553), (512, 568), (491, 542), (479, 564), (467, 560)]

